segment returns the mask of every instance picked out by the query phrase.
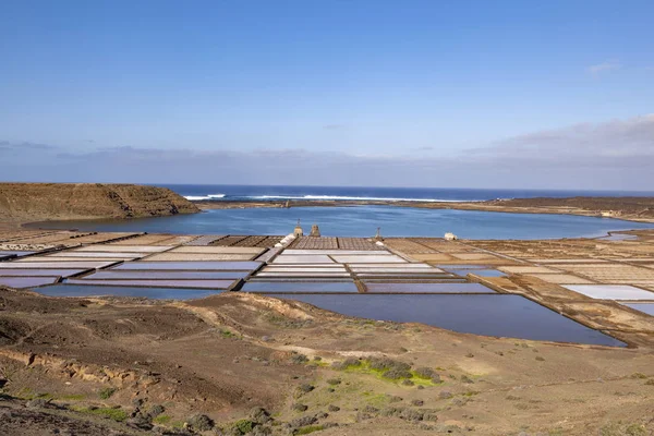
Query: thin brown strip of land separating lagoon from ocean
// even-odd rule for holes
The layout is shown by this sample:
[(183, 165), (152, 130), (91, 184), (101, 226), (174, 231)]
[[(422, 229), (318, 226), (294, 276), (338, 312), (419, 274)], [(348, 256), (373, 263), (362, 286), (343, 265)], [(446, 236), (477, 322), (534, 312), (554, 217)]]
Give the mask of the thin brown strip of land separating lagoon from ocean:
[[(246, 207), (286, 207), (287, 202), (194, 202), (202, 209)], [(631, 221), (654, 222), (652, 197), (570, 197), (570, 198), (514, 198), (488, 202), (383, 202), (383, 201), (291, 201), (289, 207), (383, 205), (421, 207), (429, 209), (460, 209), (504, 211), (514, 214), (566, 214), (607, 216)]]

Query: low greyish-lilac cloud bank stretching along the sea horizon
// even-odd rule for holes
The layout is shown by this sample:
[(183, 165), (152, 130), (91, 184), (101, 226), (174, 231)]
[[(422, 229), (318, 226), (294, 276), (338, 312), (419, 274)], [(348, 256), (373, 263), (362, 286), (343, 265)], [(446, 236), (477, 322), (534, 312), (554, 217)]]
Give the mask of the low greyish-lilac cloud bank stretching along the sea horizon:
[(135, 146), (62, 152), (5, 153), (0, 174), (33, 181), (651, 190), (654, 114), (536, 131), (450, 155)]

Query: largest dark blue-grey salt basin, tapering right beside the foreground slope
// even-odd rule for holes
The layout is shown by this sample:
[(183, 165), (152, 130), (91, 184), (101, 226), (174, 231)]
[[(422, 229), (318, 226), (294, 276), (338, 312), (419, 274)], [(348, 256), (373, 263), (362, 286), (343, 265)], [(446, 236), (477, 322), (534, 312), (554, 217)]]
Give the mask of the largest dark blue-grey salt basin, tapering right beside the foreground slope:
[(268, 294), (299, 300), (343, 315), (397, 323), (423, 323), (455, 331), (530, 340), (623, 347), (520, 295), (398, 295), (352, 293)]

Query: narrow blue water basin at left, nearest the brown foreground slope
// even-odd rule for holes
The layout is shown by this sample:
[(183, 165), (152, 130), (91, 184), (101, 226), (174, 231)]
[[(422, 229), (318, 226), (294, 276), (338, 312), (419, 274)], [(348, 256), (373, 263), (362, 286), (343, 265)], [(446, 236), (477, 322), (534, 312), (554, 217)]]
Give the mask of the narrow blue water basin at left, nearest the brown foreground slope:
[(161, 300), (192, 300), (204, 299), (219, 294), (223, 291), (208, 291), (199, 289), (183, 288), (130, 288), (111, 286), (77, 286), (77, 284), (53, 284), (44, 288), (33, 289), (33, 291), (50, 296), (141, 296), (147, 299)]

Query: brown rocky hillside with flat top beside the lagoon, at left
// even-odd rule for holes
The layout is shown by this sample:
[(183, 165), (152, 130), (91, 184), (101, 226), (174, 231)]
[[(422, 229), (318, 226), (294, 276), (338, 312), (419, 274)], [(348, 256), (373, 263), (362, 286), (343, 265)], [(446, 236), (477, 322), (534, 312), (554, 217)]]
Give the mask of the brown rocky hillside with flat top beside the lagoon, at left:
[(199, 209), (157, 186), (101, 183), (0, 183), (0, 221), (140, 218)]

